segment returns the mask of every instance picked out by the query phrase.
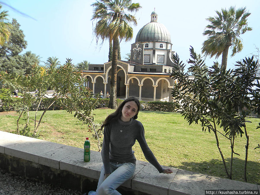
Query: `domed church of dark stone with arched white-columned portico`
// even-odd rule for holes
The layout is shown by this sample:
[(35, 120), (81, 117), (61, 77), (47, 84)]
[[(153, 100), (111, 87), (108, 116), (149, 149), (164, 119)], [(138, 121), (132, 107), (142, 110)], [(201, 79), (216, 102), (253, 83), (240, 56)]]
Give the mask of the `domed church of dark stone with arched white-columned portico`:
[[(144, 101), (172, 101), (169, 97), (176, 82), (170, 77), (175, 66), (171, 60), (174, 51), (169, 31), (157, 20), (158, 15), (152, 12), (151, 22), (139, 30), (131, 44), (130, 59), (118, 60), (117, 97), (121, 99), (133, 96)], [(86, 86), (93, 93), (110, 94), (111, 65), (90, 64), (89, 70), (83, 71), (88, 78)]]

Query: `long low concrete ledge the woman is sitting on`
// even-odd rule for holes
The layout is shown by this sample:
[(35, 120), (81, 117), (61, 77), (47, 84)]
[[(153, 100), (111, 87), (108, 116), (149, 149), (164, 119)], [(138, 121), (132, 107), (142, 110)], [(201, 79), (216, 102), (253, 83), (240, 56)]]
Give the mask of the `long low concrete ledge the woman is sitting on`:
[[(95, 190), (102, 166), (101, 153), (0, 131), (0, 168), (40, 181), (86, 192)], [(159, 174), (149, 163), (137, 161), (135, 174), (122, 194), (205, 194), (205, 190), (259, 190), (260, 186), (172, 168)]]

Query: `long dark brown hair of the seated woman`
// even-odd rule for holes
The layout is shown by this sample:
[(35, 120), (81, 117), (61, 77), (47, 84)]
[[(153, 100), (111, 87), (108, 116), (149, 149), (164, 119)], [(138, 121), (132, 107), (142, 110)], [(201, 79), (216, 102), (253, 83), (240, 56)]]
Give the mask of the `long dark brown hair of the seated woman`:
[(130, 102), (130, 101), (134, 101), (134, 102), (136, 103), (137, 107), (138, 107), (135, 116), (133, 116), (134, 119), (137, 119), (137, 117), (138, 117), (138, 112), (139, 112), (139, 110), (140, 110), (140, 102), (139, 102), (139, 100), (136, 99), (135, 97), (129, 97), (129, 98), (125, 99), (125, 101), (123, 101), (123, 102), (118, 106), (118, 108), (116, 109), (115, 112), (113, 112), (112, 114), (109, 114), (109, 115), (107, 116), (107, 118), (104, 120), (104, 122), (103, 122), (103, 124), (102, 124), (102, 126), (101, 126), (101, 129), (103, 129), (103, 127), (105, 127), (106, 125), (108, 125), (111, 121), (120, 118), (121, 115), (122, 115), (122, 109), (123, 109), (125, 103)]

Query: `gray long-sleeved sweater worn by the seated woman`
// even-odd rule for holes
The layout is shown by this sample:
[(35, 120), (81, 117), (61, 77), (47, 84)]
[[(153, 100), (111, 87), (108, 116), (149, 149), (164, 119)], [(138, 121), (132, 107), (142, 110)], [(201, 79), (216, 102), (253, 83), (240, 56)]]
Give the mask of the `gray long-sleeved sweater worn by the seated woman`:
[(136, 158), (132, 146), (138, 141), (144, 157), (161, 173), (164, 169), (158, 163), (144, 138), (144, 127), (138, 120), (124, 122), (120, 119), (110, 122), (104, 128), (104, 140), (101, 151), (105, 174), (111, 173), (109, 162), (133, 163)]

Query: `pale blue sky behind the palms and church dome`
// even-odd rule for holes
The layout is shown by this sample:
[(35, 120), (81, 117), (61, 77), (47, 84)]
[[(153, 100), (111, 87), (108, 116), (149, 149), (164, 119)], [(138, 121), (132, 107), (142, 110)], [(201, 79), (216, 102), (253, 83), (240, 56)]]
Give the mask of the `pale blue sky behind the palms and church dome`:
[[(28, 16), (15, 12), (6, 5), (1, 10), (9, 11), (9, 19), (16, 18), (27, 40), (27, 49), (41, 57), (46, 62), (48, 57), (56, 56), (64, 64), (66, 58), (71, 58), (74, 64), (88, 60), (92, 64), (103, 64), (108, 61), (109, 44), (104, 41), (96, 42), (93, 34), (91, 16), (93, 0), (1, 0)], [(208, 24), (205, 18), (215, 16), (216, 10), (221, 8), (245, 7), (251, 15), (248, 17), (252, 31), (241, 35), (244, 49), (234, 57), (228, 58), (228, 68), (234, 68), (236, 61), (255, 53), (255, 47), (260, 48), (260, 1), (259, 0), (139, 0), (142, 6), (135, 13), (138, 25), (133, 26), (133, 39), (120, 43), (121, 57), (130, 52), (131, 44), (135, 42), (138, 31), (151, 20), (154, 8), (158, 14), (158, 22), (166, 26), (171, 35), (172, 50), (176, 51), (180, 59), (186, 62), (189, 57), (190, 45), (197, 53), (201, 52), (202, 35)], [(229, 52), (231, 53), (231, 51)], [(221, 63), (221, 57), (206, 58), (207, 66), (213, 61)], [(41, 62), (41, 64), (44, 64)]]

